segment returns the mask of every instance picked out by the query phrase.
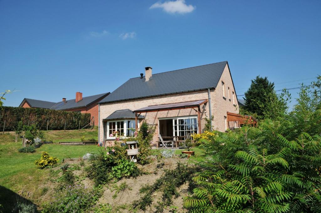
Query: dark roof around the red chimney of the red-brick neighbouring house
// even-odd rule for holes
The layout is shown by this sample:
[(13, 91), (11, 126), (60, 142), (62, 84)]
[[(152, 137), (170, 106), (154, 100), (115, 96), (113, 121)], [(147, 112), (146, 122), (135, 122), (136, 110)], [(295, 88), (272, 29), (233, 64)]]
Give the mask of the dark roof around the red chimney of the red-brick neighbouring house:
[(76, 99), (60, 101), (60, 102), (56, 103), (54, 106), (52, 106), (50, 109), (65, 110), (65, 109), (86, 107), (86, 106), (90, 105), (91, 103), (93, 103), (94, 101), (96, 101), (97, 99), (102, 98), (108, 94), (110, 94), (110, 92), (83, 97), (82, 100), (78, 101), (78, 102), (76, 102)]

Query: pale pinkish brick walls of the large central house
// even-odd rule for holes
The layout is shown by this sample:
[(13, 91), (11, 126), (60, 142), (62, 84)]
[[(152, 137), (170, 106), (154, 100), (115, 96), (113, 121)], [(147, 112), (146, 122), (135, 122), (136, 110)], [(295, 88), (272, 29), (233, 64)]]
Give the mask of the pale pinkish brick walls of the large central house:
[[(230, 71), (228, 66), (226, 65), (219, 84), (216, 89), (210, 90), (211, 95), (211, 105), (212, 105), (212, 115), (213, 119), (213, 128), (218, 131), (225, 131), (224, 125), (224, 116), (227, 116), (227, 112), (239, 113), (237, 99), (235, 99), (236, 107), (233, 106), (232, 99), (231, 101), (228, 97), (223, 99), (222, 96), (222, 86), (221, 81), (224, 81), (224, 86), (226, 87), (226, 94), (228, 91), (228, 87), (230, 87), (230, 93), (232, 91), (235, 92), (232, 79), (230, 76)], [(230, 97), (232, 97), (230, 95)], [(236, 97), (235, 97), (236, 98)], [(141, 98), (134, 100), (126, 100), (112, 103), (100, 104), (100, 141), (103, 140), (104, 137), (104, 129), (103, 127), (103, 119), (108, 117), (116, 110), (120, 109), (130, 109), (132, 111), (136, 109), (140, 109), (143, 107), (151, 106), (151, 105), (159, 105), (159, 104), (170, 104), (170, 103), (178, 103), (178, 102), (186, 102), (186, 101), (194, 101), (194, 100), (207, 100), (208, 99), (208, 90), (202, 91), (194, 91), (194, 92), (186, 92), (186, 93), (178, 93), (157, 97), (149, 97), (149, 98)], [(197, 108), (195, 108), (197, 110)], [(145, 116), (146, 122), (148, 124), (155, 125), (155, 134), (152, 140), (152, 143), (155, 144), (155, 141), (158, 141), (158, 119), (159, 118), (170, 118), (170, 117), (180, 117), (180, 116), (191, 116), (196, 115), (197, 112), (194, 109), (180, 109), (180, 110), (169, 110), (169, 111), (160, 111), (160, 112), (148, 112), (142, 113), (141, 115)], [(201, 106), (201, 129), (204, 129), (204, 118), (209, 118), (209, 103)], [(140, 122), (142, 122), (141, 120)], [(106, 134), (105, 134), (106, 136)]]

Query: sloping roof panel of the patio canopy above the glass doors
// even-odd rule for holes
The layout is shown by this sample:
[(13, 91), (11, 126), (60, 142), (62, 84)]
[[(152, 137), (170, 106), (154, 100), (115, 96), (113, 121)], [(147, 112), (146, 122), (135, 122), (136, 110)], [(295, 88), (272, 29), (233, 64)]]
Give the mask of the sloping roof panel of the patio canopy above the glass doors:
[(184, 108), (184, 107), (197, 107), (206, 102), (207, 100), (197, 100), (197, 101), (186, 101), (186, 102), (179, 102), (179, 103), (173, 103), (173, 104), (159, 104), (159, 105), (143, 107), (143, 108), (134, 110), (134, 112), (139, 113), (139, 112), (150, 112), (150, 111)]

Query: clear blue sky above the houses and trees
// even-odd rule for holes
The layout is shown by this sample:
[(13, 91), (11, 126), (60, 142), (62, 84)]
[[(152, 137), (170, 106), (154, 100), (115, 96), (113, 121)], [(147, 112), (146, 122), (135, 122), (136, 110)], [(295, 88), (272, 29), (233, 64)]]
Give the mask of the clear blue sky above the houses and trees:
[(4, 105), (112, 92), (146, 66), (226, 60), (238, 95), (256, 75), (297, 87), (321, 74), (320, 9), (313, 0), (2, 0), (0, 90), (18, 90)]

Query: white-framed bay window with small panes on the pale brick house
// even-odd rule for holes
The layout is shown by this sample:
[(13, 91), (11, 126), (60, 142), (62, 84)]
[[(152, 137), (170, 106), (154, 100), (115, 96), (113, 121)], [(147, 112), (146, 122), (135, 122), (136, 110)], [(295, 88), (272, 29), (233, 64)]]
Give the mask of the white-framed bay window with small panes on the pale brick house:
[[(139, 124), (139, 123), (138, 123)], [(135, 132), (135, 120), (108, 121), (105, 123), (105, 138), (115, 139), (113, 132), (117, 131), (116, 136), (133, 136)], [(112, 135), (112, 136), (110, 136)]]

